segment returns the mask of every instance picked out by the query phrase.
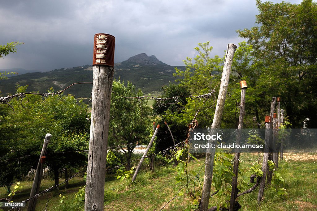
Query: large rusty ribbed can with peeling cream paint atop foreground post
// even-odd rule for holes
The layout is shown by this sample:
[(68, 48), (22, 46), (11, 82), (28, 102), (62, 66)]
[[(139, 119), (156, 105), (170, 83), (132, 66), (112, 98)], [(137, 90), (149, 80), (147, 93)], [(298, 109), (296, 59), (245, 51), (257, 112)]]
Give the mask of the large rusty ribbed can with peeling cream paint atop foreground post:
[(95, 34), (93, 65), (114, 65), (114, 36), (110, 34)]

